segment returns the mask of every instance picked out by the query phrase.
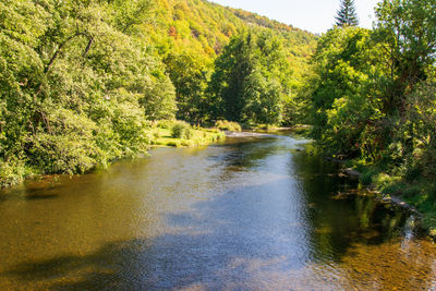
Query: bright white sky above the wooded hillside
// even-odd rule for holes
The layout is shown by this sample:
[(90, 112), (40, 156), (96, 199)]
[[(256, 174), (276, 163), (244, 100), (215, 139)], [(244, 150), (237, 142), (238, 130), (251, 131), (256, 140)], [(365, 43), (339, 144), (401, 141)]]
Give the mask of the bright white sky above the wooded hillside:
[[(291, 24), (312, 33), (331, 28), (340, 0), (210, 0), (226, 7), (240, 8), (269, 19)], [(379, 0), (354, 0), (360, 26), (372, 28), (374, 8)]]

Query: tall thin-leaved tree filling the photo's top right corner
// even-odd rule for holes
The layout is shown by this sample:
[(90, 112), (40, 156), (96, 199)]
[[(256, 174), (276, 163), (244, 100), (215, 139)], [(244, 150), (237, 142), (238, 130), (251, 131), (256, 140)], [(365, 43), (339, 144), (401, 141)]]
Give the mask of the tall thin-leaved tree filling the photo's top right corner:
[(436, 54), (436, 2), (384, 0), (376, 9), (374, 38), (389, 65), (384, 111), (402, 114), (404, 96), (431, 76)]

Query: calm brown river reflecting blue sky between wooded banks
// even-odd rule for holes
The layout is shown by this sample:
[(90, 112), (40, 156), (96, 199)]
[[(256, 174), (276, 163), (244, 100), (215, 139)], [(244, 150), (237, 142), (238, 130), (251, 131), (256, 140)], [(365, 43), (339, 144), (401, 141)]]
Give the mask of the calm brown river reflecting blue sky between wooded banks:
[(158, 148), (0, 193), (0, 290), (436, 290), (413, 217), (290, 136)]

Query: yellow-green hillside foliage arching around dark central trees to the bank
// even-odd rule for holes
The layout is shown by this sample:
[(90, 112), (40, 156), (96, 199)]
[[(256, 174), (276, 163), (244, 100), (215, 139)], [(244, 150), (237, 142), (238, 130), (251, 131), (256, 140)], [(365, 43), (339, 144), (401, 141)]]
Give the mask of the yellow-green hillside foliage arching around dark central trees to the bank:
[[(209, 111), (216, 109), (209, 107), (215, 102), (215, 96), (206, 93), (206, 87), (214, 61), (232, 37), (250, 28), (255, 34), (267, 32), (277, 38), (294, 72), (288, 76), (288, 82), (292, 84), (290, 89), (295, 90), (303, 82), (316, 43), (316, 37), (307, 32), (208, 1), (155, 0), (153, 15), (155, 21), (146, 25), (146, 38), (156, 44), (157, 53), (175, 87), (177, 118), (197, 124), (214, 122), (217, 118)], [(266, 93), (276, 94), (275, 86)]]

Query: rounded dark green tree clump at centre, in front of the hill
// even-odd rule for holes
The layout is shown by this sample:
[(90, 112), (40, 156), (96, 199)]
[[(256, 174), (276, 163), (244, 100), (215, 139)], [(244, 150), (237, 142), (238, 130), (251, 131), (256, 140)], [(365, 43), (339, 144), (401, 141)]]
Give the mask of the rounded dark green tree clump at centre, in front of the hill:
[(267, 32), (241, 34), (216, 60), (209, 84), (210, 111), (216, 119), (280, 123), (290, 74), (278, 38)]

